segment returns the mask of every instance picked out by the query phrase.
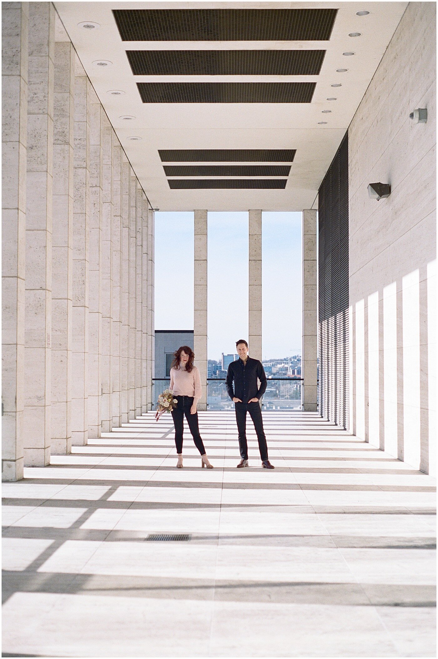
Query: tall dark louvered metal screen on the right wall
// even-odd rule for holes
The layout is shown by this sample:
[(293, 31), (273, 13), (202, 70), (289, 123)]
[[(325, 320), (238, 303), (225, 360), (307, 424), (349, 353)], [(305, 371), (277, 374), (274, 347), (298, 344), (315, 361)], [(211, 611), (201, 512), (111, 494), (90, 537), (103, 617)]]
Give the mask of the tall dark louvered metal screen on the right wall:
[(319, 188), (319, 411), (348, 428), (348, 132)]

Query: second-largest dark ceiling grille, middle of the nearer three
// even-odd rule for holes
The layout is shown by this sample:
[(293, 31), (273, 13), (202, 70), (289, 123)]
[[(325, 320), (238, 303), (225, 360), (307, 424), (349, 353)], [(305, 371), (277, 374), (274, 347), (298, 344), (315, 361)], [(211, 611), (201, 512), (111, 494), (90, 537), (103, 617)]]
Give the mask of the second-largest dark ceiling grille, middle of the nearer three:
[(325, 50), (128, 50), (134, 76), (317, 76)]

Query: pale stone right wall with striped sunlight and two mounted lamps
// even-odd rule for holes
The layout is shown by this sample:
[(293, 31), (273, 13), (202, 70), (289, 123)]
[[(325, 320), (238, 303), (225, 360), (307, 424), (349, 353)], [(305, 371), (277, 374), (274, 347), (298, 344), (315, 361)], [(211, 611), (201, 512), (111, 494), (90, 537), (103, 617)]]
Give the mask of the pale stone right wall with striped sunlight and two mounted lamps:
[[(410, 3), (348, 130), (350, 429), (435, 465), (435, 3)], [(410, 113), (427, 108), (427, 123)], [(368, 197), (369, 183), (391, 195)]]

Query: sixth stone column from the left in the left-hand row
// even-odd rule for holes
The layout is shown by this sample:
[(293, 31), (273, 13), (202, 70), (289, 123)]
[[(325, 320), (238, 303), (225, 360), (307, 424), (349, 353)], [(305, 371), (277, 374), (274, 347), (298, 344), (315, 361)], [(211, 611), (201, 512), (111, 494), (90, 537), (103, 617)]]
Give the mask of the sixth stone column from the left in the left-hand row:
[(111, 378), (111, 319), (113, 316), (111, 300), (111, 260), (113, 245), (111, 243), (111, 218), (113, 217), (113, 198), (111, 183), (113, 178), (113, 159), (111, 133), (113, 128), (105, 111), (101, 107), (102, 146), (103, 146), (103, 215), (102, 215), (102, 347), (101, 347), (101, 429), (111, 432), (113, 427), (112, 398), (113, 382)]

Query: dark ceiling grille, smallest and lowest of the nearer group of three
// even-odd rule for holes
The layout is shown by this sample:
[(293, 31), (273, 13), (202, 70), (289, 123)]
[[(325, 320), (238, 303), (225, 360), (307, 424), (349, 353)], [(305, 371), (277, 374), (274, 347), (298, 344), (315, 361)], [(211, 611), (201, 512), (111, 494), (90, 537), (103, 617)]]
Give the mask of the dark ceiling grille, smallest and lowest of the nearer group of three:
[(143, 103), (311, 103), (315, 82), (138, 82)]

